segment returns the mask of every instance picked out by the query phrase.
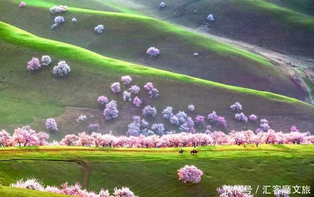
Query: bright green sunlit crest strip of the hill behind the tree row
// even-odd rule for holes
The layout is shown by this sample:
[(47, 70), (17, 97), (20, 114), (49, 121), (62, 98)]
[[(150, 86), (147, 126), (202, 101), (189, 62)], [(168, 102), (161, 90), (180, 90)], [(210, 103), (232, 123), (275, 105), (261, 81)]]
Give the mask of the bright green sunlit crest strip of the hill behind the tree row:
[[(25, 46), (25, 47), (36, 49), (36, 50), (49, 51), (53, 54), (63, 56), (66, 58), (70, 57), (70, 58), (81, 60), (83, 62), (89, 62), (90, 64), (94, 64), (94, 65), (97, 64), (97, 66), (106, 67), (107, 69), (110, 69), (113, 72), (123, 71), (123, 72), (128, 72), (130, 74), (142, 74), (143, 72), (145, 72), (146, 75), (163, 77), (167, 80), (170, 79), (170, 80), (175, 80), (177, 82), (182, 82), (182, 83), (194, 83), (194, 84), (199, 84), (199, 85), (208, 85), (210, 87), (224, 89), (226, 91), (233, 91), (233, 92), (242, 93), (242, 94), (260, 96), (268, 100), (296, 103), (299, 105), (307, 106), (308, 108), (311, 108), (314, 110), (314, 106), (308, 103), (302, 102), (300, 100), (284, 96), (284, 95), (249, 89), (245, 87), (237, 87), (233, 85), (221, 84), (218, 82), (203, 80), (203, 79), (190, 77), (183, 74), (172, 73), (169, 71), (164, 71), (164, 70), (160, 70), (156, 68), (146, 67), (146, 66), (142, 66), (142, 65), (138, 65), (138, 64), (134, 64), (130, 62), (113, 59), (110, 57), (102, 56), (100, 54), (97, 54), (95, 52), (89, 51), (87, 49), (84, 49), (75, 45), (38, 37), (23, 29), (16, 28), (12, 25), (6, 24), (1, 21), (0, 21), (0, 36), (1, 36), (0, 37), (1, 39), (11, 44)], [(56, 48), (58, 50), (55, 50)], [(71, 53), (67, 54), (65, 52), (71, 52)]]

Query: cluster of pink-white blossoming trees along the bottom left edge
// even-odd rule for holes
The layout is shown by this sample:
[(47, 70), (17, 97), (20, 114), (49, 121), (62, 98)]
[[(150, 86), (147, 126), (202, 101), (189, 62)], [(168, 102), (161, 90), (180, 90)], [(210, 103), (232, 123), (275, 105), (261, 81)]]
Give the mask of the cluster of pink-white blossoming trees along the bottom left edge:
[(85, 189), (82, 189), (79, 183), (76, 183), (75, 185), (70, 185), (68, 184), (68, 182), (66, 182), (61, 184), (60, 187), (45, 187), (43, 183), (36, 178), (29, 178), (26, 180), (20, 179), (15, 183), (12, 183), (10, 187), (30, 189), (42, 192), (51, 192), (77, 197), (136, 197), (128, 187), (122, 187), (121, 189), (114, 188), (113, 194), (110, 195), (109, 191), (104, 189), (102, 189), (99, 193), (87, 191)]

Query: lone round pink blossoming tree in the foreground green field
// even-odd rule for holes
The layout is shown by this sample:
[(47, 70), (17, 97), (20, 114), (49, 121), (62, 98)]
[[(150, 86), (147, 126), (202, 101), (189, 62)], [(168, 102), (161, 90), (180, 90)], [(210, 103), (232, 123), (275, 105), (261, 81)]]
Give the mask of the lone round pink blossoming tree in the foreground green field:
[(201, 181), (203, 171), (195, 166), (185, 165), (183, 168), (178, 169), (179, 180), (183, 183), (198, 183)]

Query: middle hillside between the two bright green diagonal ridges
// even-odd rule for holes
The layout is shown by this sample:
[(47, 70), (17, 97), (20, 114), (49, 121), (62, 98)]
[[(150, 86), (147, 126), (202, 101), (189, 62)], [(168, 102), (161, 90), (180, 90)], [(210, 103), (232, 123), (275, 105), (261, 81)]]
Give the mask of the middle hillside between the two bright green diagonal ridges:
[[(57, 14), (49, 12), (51, 4), (41, 2), (29, 1), (29, 6), (21, 9), (5, 0), (0, 8), (0, 20), (35, 35), (112, 58), (304, 100), (302, 89), (261, 56), (156, 19), (131, 14), (69, 8), (62, 13), (67, 22), (52, 30)], [(78, 23), (70, 22), (72, 17)], [(101, 35), (93, 31), (98, 24), (105, 25)], [(160, 49), (161, 56), (146, 56), (151, 46)], [(195, 52), (200, 56), (193, 56)]]

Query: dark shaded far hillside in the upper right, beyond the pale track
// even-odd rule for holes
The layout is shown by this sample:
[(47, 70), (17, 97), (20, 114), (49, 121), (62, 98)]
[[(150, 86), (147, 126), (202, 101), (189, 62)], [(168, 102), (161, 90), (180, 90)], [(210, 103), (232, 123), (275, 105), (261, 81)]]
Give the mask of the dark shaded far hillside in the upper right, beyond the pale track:
[[(284, 54), (311, 57), (314, 53), (311, 0), (166, 0), (164, 10), (159, 10), (160, 2), (154, 0), (119, 2), (148, 16)], [(214, 23), (206, 20), (209, 13), (216, 17)]]

